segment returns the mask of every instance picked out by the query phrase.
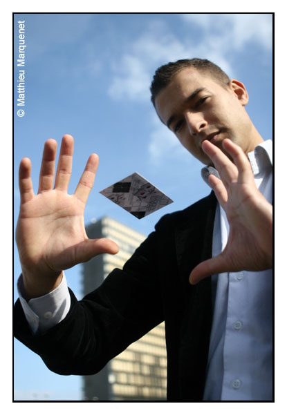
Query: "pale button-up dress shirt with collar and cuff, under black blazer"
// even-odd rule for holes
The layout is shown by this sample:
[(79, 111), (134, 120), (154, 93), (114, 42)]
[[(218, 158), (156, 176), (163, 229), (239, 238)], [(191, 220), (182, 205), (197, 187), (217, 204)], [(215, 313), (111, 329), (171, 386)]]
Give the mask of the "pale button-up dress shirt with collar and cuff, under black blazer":
[[(257, 188), (272, 202), (272, 141), (248, 154)], [(212, 256), (228, 240), (229, 225), (217, 204)], [(51, 293), (19, 299), (35, 334), (62, 321), (70, 308), (65, 276)], [(272, 400), (272, 270), (212, 276), (214, 315), (204, 400)]]

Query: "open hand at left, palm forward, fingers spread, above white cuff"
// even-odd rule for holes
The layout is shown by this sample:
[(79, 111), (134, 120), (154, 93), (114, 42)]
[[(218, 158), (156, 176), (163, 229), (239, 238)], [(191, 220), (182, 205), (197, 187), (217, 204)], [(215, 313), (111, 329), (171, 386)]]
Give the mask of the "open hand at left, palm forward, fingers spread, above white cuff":
[(39, 191), (33, 193), (31, 163), (24, 158), (19, 167), (21, 205), (16, 241), (24, 278), (26, 299), (44, 295), (62, 280), (62, 270), (85, 262), (99, 253), (117, 253), (115, 242), (89, 240), (84, 228), (84, 208), (93, 187), (98, 155), (92, 154), (73, 195), (68, 195), (73, 161), (73, 137), (62, 139), (57, 173), (57, 142), (44, 146)]

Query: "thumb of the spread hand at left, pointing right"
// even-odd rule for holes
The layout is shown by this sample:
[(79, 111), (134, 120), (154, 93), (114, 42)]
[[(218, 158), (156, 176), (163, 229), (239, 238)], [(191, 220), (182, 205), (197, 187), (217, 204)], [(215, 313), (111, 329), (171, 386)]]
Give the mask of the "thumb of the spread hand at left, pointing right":
[(95, 255), (101, 253), (118, 253), (118, 245), (110, 239), (87, 239), (75, 247), (75, 263), (80, 264), (91, 260)]

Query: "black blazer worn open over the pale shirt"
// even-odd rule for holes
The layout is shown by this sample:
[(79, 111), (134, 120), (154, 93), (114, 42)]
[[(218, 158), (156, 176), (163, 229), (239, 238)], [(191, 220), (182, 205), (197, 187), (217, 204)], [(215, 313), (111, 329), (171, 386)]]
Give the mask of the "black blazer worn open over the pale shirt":
[(216, 197), (165, 215), (123, 270), (114, 269), (45, 334), (31, 334), (19, 300), (14, 332), (58, 374), (94, 374), (165, 320), (167, 400), (203, 398), (212, 324), (211, 278), (189, 284), (212, 255)]

